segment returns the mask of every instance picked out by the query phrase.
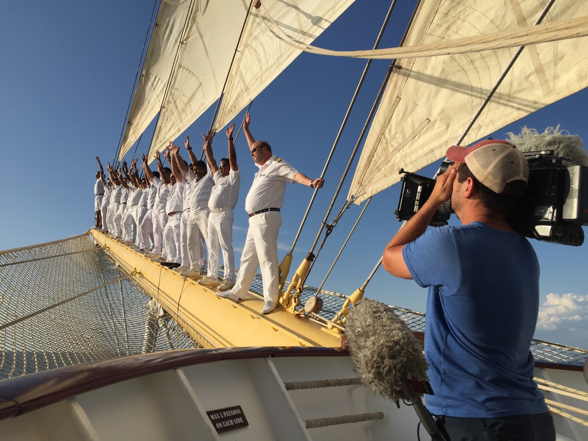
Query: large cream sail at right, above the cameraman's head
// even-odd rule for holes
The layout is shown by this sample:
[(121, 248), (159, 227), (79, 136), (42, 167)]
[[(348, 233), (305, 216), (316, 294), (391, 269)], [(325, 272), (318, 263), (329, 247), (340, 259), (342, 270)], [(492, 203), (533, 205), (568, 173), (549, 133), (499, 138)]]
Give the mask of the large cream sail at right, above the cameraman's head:
[[(524, 28), (547, 1), (432, 0), (419, 6), (405, 46)], [(588, 2), (556, 0), (549, 24), (588, 15)], [(588, 85), (588, 38), (524, 48), (462, 145), (483, 138)], [(361, 203), (400, 181), (400, 168), (418, 171), (443, 158), (509, 64), (516, 48), (400, 59), (366, 138), (348, 198)], [(553, 124), (560, 121), (554, 115)]]

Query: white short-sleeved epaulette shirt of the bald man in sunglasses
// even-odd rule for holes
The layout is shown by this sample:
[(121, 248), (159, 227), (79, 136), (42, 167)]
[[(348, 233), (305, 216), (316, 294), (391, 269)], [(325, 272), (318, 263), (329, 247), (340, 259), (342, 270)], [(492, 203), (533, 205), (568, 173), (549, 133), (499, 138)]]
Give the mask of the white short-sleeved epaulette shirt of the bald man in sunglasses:
[(248, 213), (265, 208), (282, 208), (286, 193), (286, 182), (294, 182), (298, 171), (288, 162), (272, 155), (268, 161), (259, 165), (259, 172), (255, 173), (253, 183), (245, 199), (245, 210)]

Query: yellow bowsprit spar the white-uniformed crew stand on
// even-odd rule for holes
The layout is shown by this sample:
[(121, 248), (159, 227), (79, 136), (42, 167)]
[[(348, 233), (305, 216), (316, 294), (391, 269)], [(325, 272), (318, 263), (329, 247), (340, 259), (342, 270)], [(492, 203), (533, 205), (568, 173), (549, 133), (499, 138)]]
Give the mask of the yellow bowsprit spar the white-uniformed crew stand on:
[(337, 330), (305, 316), (294, 316), (282, 305), (263, 315), (263, 299), (255, 293), (249, 293), (241, 303), (218, 298), (215, 290), (151, 262), (95, 229), (91, 235), (204, 348), (340, 346), (341, 334)]

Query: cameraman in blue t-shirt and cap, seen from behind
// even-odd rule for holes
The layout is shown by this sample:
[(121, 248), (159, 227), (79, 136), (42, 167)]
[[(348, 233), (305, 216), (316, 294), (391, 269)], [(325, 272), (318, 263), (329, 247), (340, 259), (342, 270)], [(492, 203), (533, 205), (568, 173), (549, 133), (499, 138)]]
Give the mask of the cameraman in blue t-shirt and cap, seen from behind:
[[(425, 356), (435, 395), (426, 405), (451, 441), (552, 441), (553, 420), (533, 381), (529, 350), (539, 264), (506, 221), (526, 188), (527, 161), (498, 139), (452, 146), (447, 158), (456, 163), (383, 258), (392, 275), (429, 287)], [(425, 233), (449, 198), (462, 225)]]

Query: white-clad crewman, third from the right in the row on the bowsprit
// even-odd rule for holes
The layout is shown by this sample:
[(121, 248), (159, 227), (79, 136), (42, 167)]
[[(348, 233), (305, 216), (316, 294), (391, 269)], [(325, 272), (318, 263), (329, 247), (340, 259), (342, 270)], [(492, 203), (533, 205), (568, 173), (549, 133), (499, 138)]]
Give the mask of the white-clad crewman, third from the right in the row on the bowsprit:
[[(211, 197), (212, 191), (212, 176), (207, 173), (206, 163), (199, 161), (196, 155), (192, 152), (190, 146), (190, 138), (186, 136), (184, 142), (186, 150), (188, 150), (188, 156), (194, 165), (194, 171), (188, 169), (185, 161), (178, 151), (179, 167), (181, 168), (186, 180), (190, 182), (190, 216), (186, 223), (186, 233), (188, 236), (188, 258), (190, 260), (190, 266), (188, 269), (180, 272), (182, 276), (186, 276), (192, 279), (201, 278), (201, 270), (203, 268), (204, 256), (206, 256), (206, 248), (202, 246), (202, 241), (208, 242), (208, 199)], [(213, 272), (211, 266), (208, 266), (208, 273), (206, 278), (212, 278)], [(214, 273), (216, 277), (216, 273)], [(218, 283), (217, 283), (218, 285)], [(215, 285), (216, 286), (216, 285)]]

